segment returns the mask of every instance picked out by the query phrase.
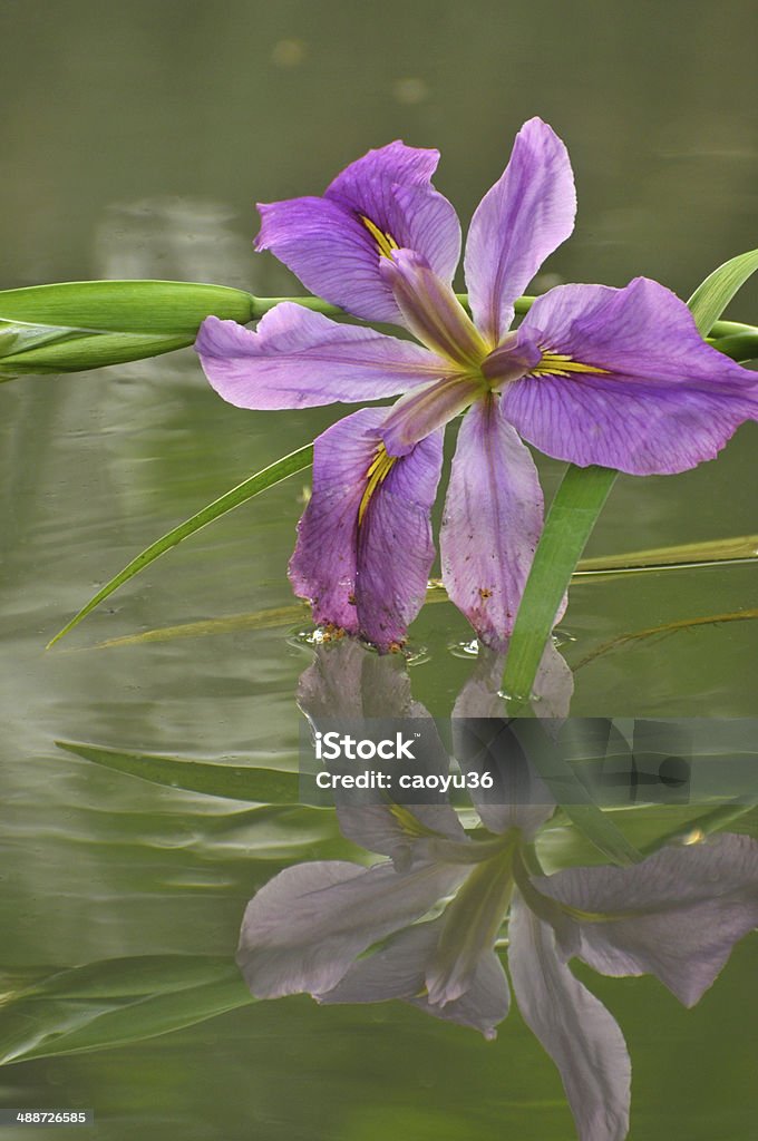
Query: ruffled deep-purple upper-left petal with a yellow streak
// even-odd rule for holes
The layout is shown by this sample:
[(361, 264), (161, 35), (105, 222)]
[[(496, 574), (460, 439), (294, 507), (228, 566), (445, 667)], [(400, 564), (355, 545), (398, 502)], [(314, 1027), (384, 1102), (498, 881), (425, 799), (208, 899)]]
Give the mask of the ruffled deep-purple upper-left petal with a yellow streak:
[(403, 143), (370, 151), (324, 196), (260, 204), (256, 248), (271, 250), (313, 293), (368, 321), (398, 322), (379, 262), (417, 250), (445, 281), (460, 254), (460, 224), (432, 187), (440, 155)]

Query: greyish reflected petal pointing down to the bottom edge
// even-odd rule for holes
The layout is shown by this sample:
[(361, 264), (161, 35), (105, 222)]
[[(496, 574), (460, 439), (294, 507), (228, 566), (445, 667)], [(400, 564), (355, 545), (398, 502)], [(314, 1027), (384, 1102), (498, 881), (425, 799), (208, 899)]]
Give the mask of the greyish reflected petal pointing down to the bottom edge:
[(615, 1020), (562, 961), (553, 929), (518, 898), (509, 938), (518, 1009), (558, 1068), (580, 1141), (623, 1141), (631, 1065)]

